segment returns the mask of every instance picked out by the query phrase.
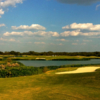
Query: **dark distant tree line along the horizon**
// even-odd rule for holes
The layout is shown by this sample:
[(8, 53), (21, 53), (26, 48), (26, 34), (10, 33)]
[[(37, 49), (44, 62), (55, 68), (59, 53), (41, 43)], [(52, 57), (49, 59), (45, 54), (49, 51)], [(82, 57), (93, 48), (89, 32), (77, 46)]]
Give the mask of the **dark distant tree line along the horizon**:
[(100, 56), (100, 52), (35, 52), (35, 51), (29, 51), (29, 52), (17, 52), (17, 51), (0, 51), (0, 55), (40, 55), (40, 56)]

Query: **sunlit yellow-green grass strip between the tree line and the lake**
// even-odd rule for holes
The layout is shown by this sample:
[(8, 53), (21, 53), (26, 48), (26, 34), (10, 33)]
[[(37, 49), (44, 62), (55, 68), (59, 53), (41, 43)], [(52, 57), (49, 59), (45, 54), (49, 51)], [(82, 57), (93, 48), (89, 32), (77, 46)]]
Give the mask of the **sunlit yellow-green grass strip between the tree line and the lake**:
[(12, 60), (89, 60), (100, 59), (97, 56), (33, 56), (33, 55), (1, 55), (1, 60), (10, 58)]

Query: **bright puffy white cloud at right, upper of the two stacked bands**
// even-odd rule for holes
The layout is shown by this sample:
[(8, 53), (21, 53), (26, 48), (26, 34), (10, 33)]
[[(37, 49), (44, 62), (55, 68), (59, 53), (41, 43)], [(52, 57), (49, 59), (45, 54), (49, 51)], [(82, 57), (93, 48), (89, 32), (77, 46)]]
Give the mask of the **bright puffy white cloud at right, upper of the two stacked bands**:
[(90, 30), (90, 31), (100, 31), (100, 24), (93, 25), (93, 23), (72, 23), (62, 27), (62, 29), (80, 29), (80, 30)]

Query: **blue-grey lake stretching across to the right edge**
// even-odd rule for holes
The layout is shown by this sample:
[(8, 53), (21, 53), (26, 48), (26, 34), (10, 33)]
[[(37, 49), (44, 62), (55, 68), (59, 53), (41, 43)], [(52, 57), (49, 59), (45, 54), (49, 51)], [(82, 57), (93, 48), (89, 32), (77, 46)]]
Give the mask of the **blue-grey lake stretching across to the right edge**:
[(61, 66), (61, 65), (69, 65), (69, 64), (100, 64), (100, 59), (91, 59), (91, 60), (83, 60), (83, 61), (36, 61), (36, 60), (18, 60), (26, 66)]

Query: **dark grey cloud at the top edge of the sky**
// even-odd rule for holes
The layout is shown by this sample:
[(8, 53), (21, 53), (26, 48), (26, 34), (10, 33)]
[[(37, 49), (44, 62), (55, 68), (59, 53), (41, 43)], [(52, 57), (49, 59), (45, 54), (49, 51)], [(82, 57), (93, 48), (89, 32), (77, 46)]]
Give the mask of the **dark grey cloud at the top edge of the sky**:
[(56, 0), (56, 1), (65, 4), (90, 5), (99, 2), (100, 0)]

